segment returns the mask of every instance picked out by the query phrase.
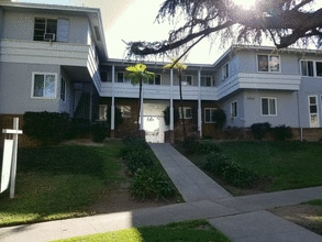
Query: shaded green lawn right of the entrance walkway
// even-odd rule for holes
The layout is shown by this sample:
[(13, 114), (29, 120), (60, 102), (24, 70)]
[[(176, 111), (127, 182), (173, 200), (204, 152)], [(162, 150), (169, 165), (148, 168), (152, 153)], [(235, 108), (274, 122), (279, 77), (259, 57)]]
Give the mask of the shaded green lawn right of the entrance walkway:
[[(322, 186), (322, 143), (221, 141), (216, 145), (225, 156), (265, 177), (263, 193)], [(185, 155), (201, 165), (203, 155)]]

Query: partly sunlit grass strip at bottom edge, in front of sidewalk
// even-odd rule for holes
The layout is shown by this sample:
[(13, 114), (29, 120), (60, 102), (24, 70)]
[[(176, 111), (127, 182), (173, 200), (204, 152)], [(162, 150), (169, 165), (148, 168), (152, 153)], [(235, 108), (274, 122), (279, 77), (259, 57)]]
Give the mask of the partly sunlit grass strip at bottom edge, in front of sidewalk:
[(133, 242), (168, 242), (168, 241), (215, 241), (229, 242), (224, 234), (213, 229), (206, 220), (195, 220), (178, 223), (169, 223), (159, 227), (143, 227), (120, 230), (108, 233), (99, 233), (87, 237), (59, 240), (59, 242), (92, 242), (92, 241), (133, 241)]

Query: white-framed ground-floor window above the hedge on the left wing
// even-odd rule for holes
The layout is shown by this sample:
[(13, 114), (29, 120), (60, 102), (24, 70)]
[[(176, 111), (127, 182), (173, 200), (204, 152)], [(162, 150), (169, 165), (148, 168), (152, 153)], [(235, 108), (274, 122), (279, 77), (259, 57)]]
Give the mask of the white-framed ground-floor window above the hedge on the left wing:
[(56, 98), (56, 75), (33, 74), (32, 88), (33, 98)]

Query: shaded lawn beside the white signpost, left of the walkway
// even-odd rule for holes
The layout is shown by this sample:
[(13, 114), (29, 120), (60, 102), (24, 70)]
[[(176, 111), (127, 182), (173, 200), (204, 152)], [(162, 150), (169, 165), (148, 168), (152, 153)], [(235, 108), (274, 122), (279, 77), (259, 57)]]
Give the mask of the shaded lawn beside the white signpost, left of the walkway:
[(88, 206), (122, 179), (119, 147), (120, 142), (20, 148), (15, 198), (8, 190), (0, 195), (0, 226), (91, 215)]

